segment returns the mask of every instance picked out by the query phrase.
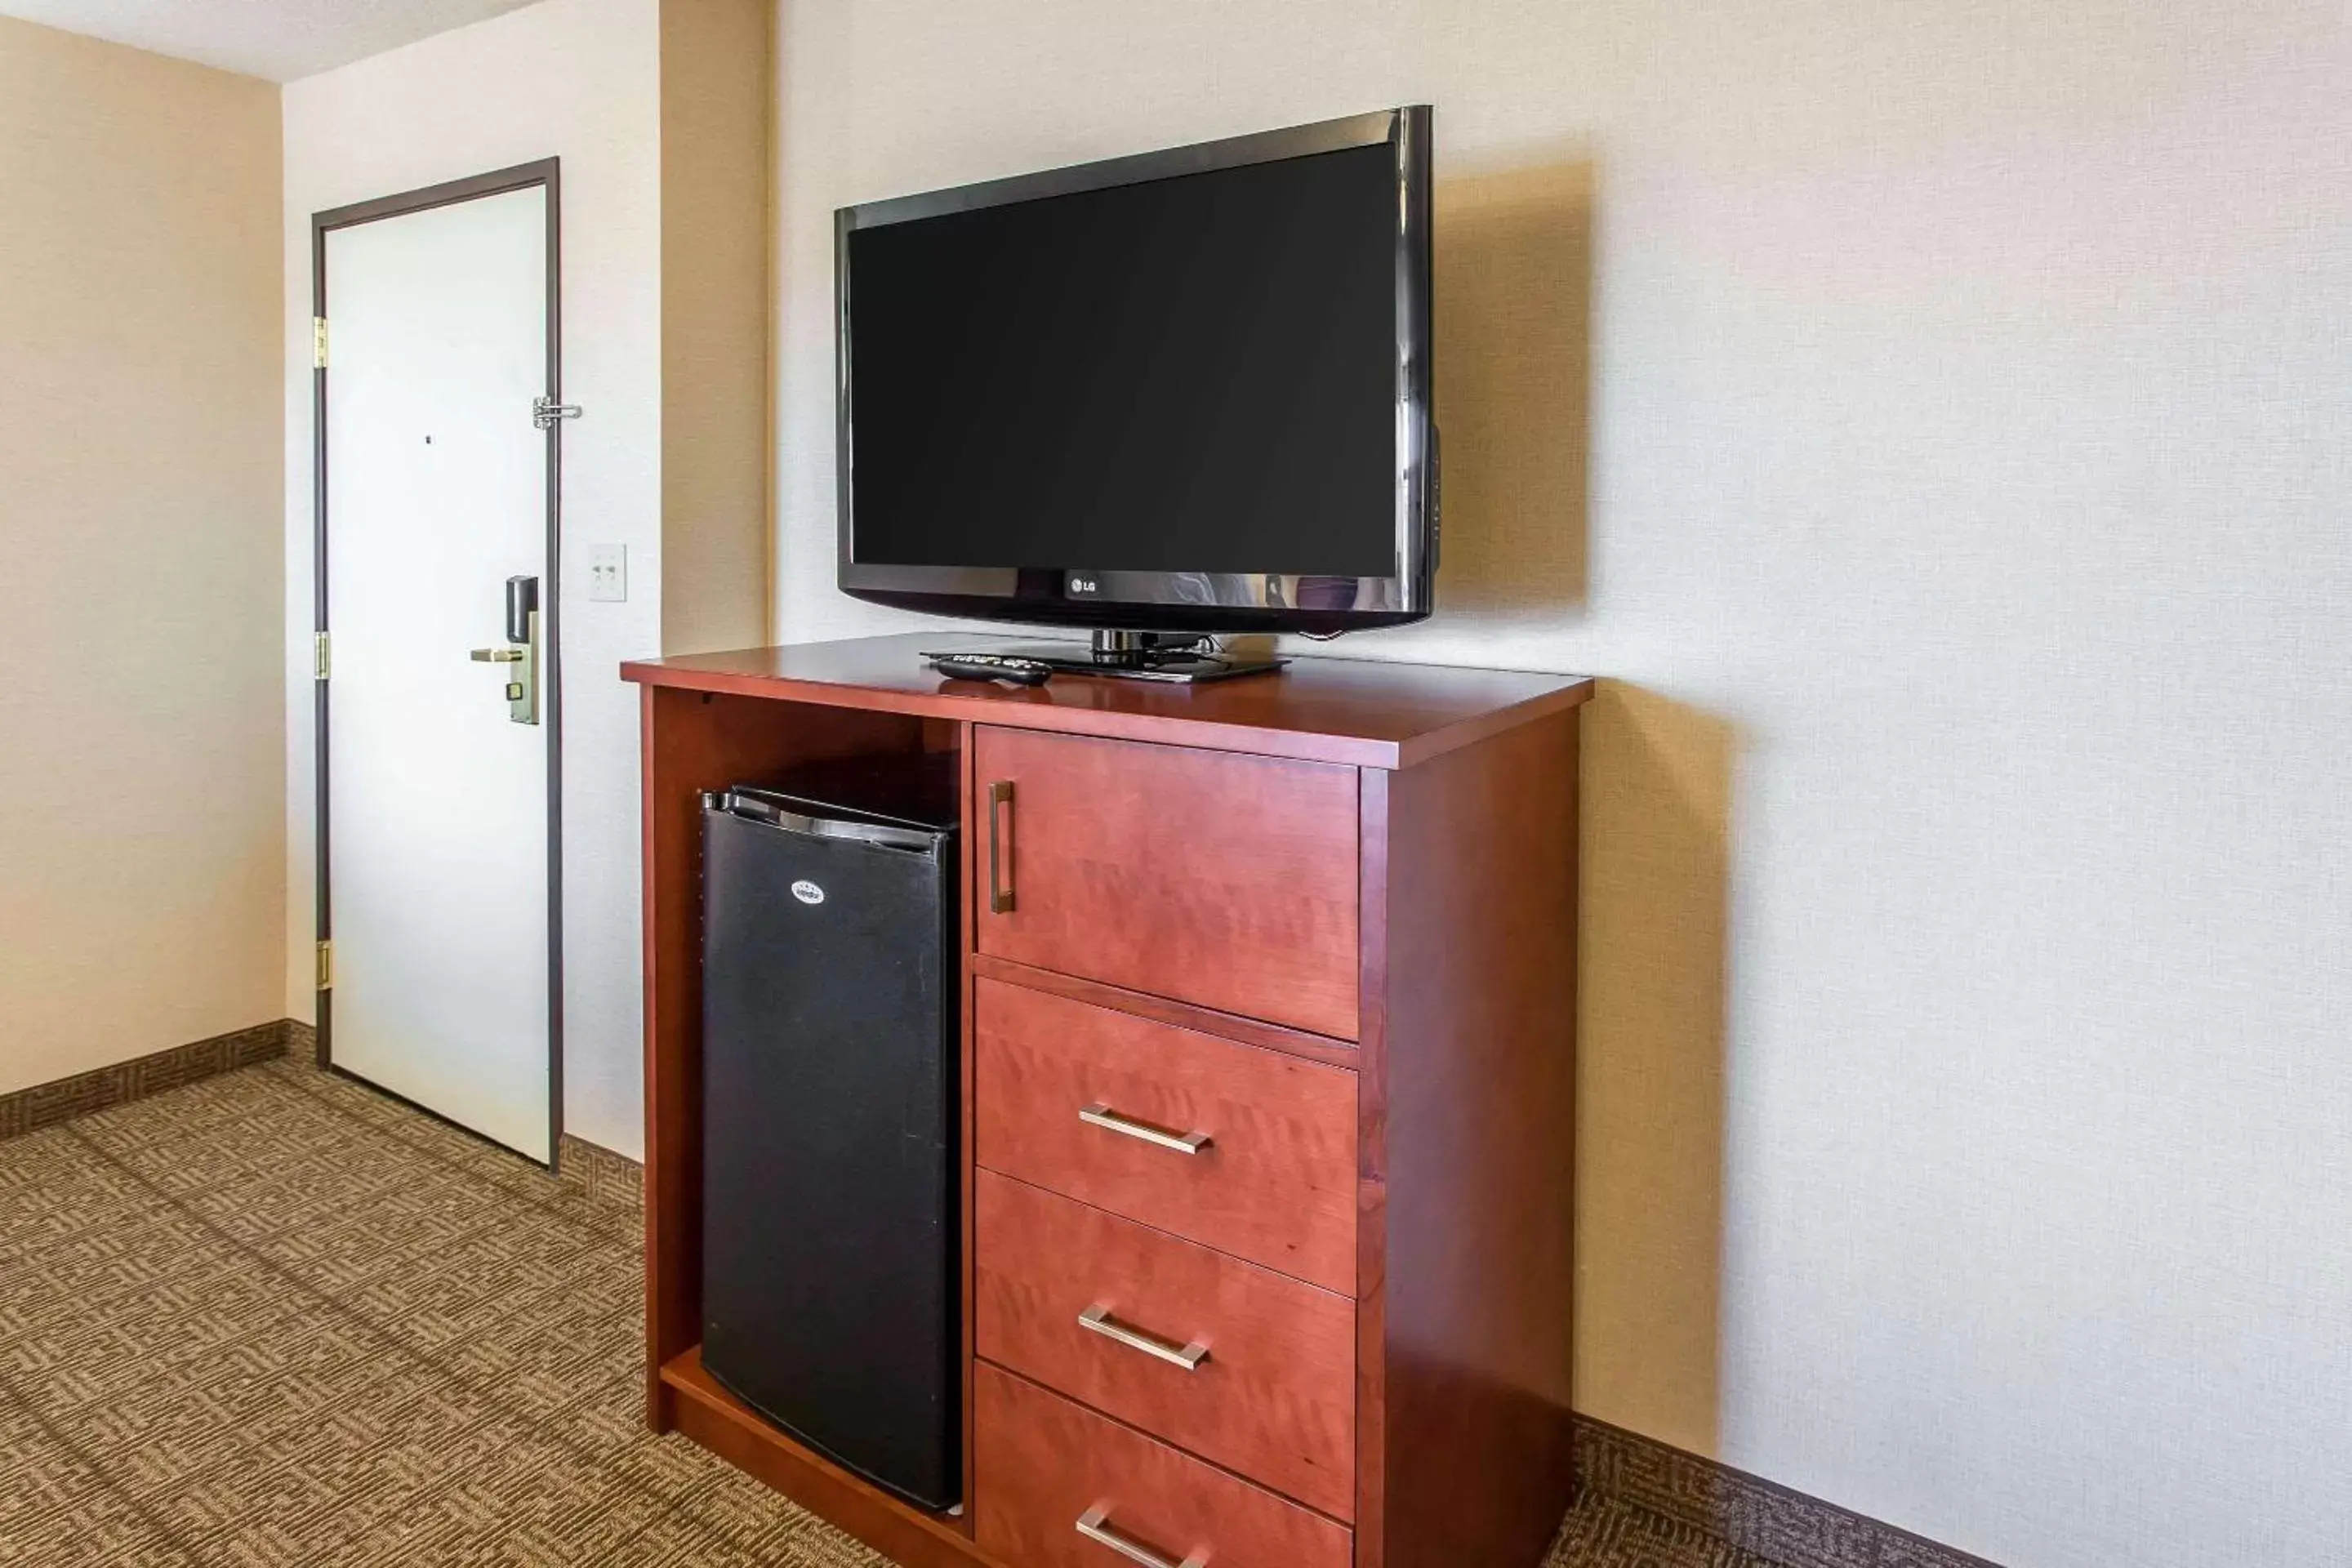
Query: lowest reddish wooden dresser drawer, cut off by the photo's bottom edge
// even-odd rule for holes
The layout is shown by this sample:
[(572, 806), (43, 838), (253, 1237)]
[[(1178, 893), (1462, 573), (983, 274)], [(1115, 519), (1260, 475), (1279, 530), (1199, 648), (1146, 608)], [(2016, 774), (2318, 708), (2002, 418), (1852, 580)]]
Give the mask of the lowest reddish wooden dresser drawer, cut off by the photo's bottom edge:
[(974, 1533), (1002, 1563), (1348, 1568), (1355, 1552), (1345, 1526), (985, 1361), (971, 1406)]

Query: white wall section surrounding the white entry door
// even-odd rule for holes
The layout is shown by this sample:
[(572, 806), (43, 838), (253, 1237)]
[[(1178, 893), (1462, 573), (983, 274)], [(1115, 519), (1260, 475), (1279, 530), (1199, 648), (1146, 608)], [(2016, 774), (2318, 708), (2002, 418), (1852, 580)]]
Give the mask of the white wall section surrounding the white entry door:
[[(637, 701), (661, 646), (661, 99), (656, 0), (543, 0), (285, 89), (287, 1011), (313, 1016), (310, 214), (562, 158), (564, 1128), (642, 1150)], [(517, 416), (524, 411), (517, 409)], [(630, 597), (590, 604), (590, 543)]]

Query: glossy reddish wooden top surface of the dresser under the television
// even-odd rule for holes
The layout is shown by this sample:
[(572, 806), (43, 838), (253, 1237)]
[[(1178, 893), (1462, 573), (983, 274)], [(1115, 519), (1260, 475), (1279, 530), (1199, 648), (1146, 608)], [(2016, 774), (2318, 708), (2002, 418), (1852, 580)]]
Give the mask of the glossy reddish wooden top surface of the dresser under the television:
[(727, 691), (833, 708), (880, 708), (974, 724), (1207, 745), (1235, 752), (1402, 769), (1515, 724), (1576, 708), (1585, 675), (1298, 658), (1277, 675), (1200, 686), (1058, 675), (1044, 686), (946, 679), (922, 649), (1002, 637), (906, 632), (621, 665), (647, 686)]

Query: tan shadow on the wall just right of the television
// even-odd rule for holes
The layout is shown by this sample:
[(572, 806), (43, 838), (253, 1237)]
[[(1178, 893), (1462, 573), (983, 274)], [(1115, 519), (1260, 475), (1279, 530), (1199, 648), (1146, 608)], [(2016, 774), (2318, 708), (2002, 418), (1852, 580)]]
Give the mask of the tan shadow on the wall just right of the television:
[(1590, 160), (1437, 183), (1446, 616), (1585, 602), (1592, 188)]

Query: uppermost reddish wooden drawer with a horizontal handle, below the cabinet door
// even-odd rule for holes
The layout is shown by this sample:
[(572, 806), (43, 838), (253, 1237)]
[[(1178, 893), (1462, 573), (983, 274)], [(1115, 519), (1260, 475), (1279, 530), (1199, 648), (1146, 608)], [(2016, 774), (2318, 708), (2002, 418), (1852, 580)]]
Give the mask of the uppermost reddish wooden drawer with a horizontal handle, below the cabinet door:
[(1002, 980), (971, 1020), (981, 1166), (1355, 1298), (1352, 1072)]

